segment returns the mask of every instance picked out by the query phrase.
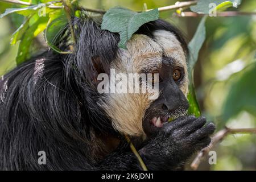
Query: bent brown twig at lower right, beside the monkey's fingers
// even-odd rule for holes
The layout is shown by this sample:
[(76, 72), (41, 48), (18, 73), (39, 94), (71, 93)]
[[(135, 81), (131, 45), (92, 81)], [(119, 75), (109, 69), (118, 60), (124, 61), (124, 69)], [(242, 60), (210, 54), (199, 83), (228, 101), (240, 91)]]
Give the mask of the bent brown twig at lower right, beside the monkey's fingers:
[(208, 152), (217, 144), (220, 142), (226, 135), (228, 134), (237, 134), (237, 133), (250, 133), (250, 134), (256, 134), (256, 128), (254, 129), (230, 129), (226, 127), (225, 129), (222, 129), (218, 131), (213, 137), (212, 142), (209, 144), (208, 147), (203, 148), (199, 154), (197, 154), (196, 158), (191, 163), (191, 168), (193, 170), (196, 170), (199, 167), (199, 164), (203, 160), (204, 156), (208, 154)]

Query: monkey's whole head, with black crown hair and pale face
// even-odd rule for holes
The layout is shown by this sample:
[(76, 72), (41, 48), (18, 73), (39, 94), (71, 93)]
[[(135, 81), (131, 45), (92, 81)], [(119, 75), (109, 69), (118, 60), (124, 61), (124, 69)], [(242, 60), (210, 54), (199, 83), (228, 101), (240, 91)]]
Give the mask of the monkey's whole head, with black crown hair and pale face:
[[(92, 22), (85, 22), (82, 27), (85, 31), (80, 33), (79, 40), (86, 43), (78, 44), (76, 55), (80, 57), (77, 59), (86, 61), (86, 79), (92, 80), (89, 85), (98, 92), (94, 104), (104, 110), (115, 130), (145, 137), (156, 133), (170, 117), (177, 118), (186, 113), (187, 44), (175, 27), (163, 20), (146, 23), (127, 42), (127, 49), (117, 47), (117, 34), (102, 31)], [(101, 73), (108, 75), (108, 80), (103, 79)], [(117, 79), (119, 73), (127, 77)], [(133, 79), (129, 79), (129, 73), (135, 73)], [(143, 80), (141, 73), (146, 78), (148, 73), (158, 73), (158, 79), (155, 79), (159, 82), (158, 97), (152, 99), (155, 93), (148, 90), (142, 93), (148, 80)], [(129, 84), (137, 78), (140, 92), (129, 92)], [(109, 82), (102, 84), (102, 81)], [(118, 92), (120, 83), (126, 84), (126, 92)]]

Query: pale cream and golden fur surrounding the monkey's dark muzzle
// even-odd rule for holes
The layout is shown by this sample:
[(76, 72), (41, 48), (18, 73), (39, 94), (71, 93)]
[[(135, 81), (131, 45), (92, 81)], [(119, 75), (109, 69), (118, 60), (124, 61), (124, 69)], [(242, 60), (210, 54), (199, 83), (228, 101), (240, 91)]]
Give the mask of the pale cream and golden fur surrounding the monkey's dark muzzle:
[[(185, 71), (181, 91), (187, 95), (188, 77), (186, 57), (180, 42), (171, 32), (157, 30), (154, 40), (149, 36), (137, 34), (127, 43), (127, 49), (119, 49), (117, 60), (110, 65), (115, 73), (150, 72), (162, 65), (162, 57), (174, 59), (175, 66)], [(142, 83), (144, 84), (144, 83)], [(142, 119), (146, 109), (154, 100), (148, 100), (149, 93), (105, 94), (99, 103), (112, 119), (113, 127), (127, 135), (144, 136)]]

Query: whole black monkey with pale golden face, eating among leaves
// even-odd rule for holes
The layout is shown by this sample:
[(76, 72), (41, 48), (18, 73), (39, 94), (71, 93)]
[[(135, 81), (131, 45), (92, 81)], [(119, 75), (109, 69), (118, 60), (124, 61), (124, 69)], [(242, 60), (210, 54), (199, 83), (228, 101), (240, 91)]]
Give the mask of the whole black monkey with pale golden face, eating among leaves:
[[(118, 34), (90, 18), (73, 25), (72, 53), (49, 49), (1, 78), (1, 170), (142, 170), (125, 135), (150, 170), (181, 169), (208, 146), (213, 123), (187, 114), (188, 48), (177, 28), (148, 22), (123, 49)], [(70, 33), (67, 26), (59, 34), (61, 50), (70, 48)], [(158, 98), (98, 92), (98, 75), (110, 69), (158, 73)]]

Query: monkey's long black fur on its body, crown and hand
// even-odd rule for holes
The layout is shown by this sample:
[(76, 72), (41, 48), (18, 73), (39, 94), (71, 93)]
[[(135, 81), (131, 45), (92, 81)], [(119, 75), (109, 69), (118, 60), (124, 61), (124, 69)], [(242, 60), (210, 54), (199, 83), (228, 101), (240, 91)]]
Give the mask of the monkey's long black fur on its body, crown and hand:
[[(75, 53), (66, 56), (48, 51), (19, 65), (0, 81), (1, 170), (141, 169), (96, 104), (99, 95), (92, 81), (98, 72), (93, 60), (98, 60), (102, 72), (108, 72), (119, 36), (102, 31), (88, 19), (75, 19), (74, 25)], [(162, 20), (147, 23), (138, 33), (150, 35), (156, 29), (174, 32), (187, 49), (176, 29)], [(183, 121), (187, 129), (177, 121), (168, 123), (156, 137), (138, 145), (149, 169), (177, 169), (209, 143), (212, 125), (201, 128), (201, 119), (193, 117)], [(111, 154), (100, 139), (105, 136), (121, 139)], [(39, 151), (46, 152), (46, 165), (38, 164)]]

